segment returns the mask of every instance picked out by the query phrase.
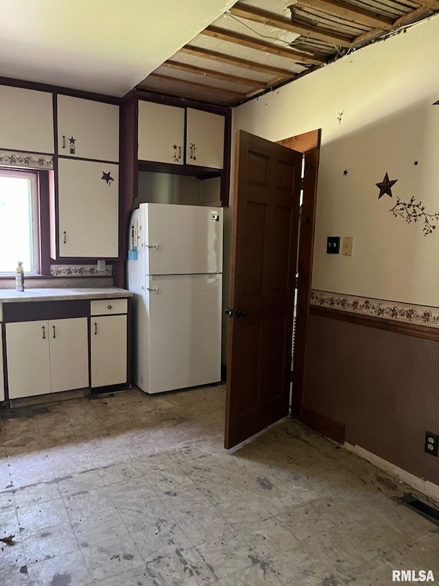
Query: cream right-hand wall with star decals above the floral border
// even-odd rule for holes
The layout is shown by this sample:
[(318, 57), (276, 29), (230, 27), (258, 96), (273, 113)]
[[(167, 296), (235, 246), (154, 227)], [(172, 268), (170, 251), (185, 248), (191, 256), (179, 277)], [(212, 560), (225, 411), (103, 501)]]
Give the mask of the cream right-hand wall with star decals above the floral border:
[[(390, 213), (412, 196), (439, 212), (438, 54), (435, 16), (233, 111), (234, 131), (273, 141), (322, 128), (314, 289), (439, 306), (439, 221), (424, 236)], [(327, 236), (353, 236), (353, 256)]]

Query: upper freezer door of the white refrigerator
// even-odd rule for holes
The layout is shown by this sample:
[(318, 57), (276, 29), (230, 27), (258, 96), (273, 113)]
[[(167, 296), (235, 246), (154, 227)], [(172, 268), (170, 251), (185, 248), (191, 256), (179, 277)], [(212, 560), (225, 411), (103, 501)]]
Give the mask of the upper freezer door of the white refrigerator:
[[(145, 274), (222, 273), (221, 207), (144, 203)], [(143, 246), (142, 246), (143, 245)]]

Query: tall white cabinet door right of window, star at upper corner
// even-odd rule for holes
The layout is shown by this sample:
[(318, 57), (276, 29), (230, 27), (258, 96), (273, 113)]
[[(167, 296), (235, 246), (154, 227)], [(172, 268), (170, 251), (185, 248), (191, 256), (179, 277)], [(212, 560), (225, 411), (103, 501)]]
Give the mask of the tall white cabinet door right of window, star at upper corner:
[(119, 166), (58, 159), (60, 257), (119, 254)]

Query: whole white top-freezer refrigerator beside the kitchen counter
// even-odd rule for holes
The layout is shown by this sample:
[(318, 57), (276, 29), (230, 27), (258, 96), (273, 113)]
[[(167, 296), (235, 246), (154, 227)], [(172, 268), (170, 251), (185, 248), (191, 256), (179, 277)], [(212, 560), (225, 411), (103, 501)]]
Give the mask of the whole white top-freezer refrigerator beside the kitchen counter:
[(220, 207), (141, 203), (130, 218), (132, 381), (160, 393), (221, 380)]

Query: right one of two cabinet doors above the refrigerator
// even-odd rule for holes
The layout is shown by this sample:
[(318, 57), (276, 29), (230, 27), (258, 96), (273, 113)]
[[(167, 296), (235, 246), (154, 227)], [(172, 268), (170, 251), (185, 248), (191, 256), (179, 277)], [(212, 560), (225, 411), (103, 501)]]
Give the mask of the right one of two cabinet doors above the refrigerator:
[(224, 116), (187, 109), (186, 163), (222, 169), (224, 161)]

